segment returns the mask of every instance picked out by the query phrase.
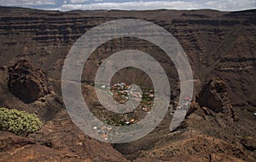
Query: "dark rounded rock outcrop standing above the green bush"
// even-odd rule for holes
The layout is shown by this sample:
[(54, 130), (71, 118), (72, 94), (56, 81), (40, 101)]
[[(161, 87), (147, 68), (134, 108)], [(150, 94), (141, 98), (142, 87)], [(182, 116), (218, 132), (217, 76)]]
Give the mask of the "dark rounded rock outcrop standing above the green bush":
[(36, 101), (52, 91), (44, 72), (26, 60), (9, 67), (9, 90), (26, 103)]

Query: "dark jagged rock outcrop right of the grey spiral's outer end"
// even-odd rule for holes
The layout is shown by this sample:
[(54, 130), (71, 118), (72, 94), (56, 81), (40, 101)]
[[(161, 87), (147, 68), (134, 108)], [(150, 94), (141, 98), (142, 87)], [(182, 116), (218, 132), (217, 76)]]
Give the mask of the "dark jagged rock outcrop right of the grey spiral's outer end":
[(224, 113), (230, 119), (235, 119), (235, 113), (230, 104), (227, 88), (222, 78), (212, 78), (204, 84), (196, 101), (201, 107), (207, 107), (214, 113)]

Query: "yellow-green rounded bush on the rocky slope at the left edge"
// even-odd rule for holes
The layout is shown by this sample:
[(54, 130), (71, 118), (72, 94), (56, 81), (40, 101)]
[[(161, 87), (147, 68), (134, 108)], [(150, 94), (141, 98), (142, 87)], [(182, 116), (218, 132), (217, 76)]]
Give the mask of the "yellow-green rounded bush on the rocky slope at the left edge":
[(27, 136), (37, 131), (43, 123), (35, 114), (16, 109), (0, 108), (0, 130), (10, 131), (20, 136)]

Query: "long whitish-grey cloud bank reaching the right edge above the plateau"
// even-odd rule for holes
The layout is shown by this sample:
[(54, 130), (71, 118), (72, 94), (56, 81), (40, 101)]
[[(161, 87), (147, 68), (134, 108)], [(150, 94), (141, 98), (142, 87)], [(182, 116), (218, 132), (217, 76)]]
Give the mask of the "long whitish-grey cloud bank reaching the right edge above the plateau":
[(89, 3), (66, 4), (59, 10), (72, 9), (218, 9), (218, 10), (242, 10), (255, 8), (254, 0), (212, 0), (212, 1), (155, 1), (155, 2), (127, 2), (127, 3)]

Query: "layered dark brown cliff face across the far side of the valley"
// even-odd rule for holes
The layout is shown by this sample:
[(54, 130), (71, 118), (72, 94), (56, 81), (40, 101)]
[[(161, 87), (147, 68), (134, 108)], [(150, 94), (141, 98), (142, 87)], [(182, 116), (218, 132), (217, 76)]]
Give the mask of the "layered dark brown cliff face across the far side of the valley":
[[(245, 106), (256, 94), (255, 35), (256, 10), (218, 12), (214, 10), (156, 11), (71, 11), (67, 13), (32, 9), (0, 8), (0, 66), (13, 65), (28, 59), (50, 78), (59, 80), (65, 57), (72, 44), (91, 27), (109, 20), (142, 19), (164, 27), (177, 38), (194, 70), (195, 84), (213, 77), (224, 78), (232, 105)], [(150, 53), (152, 44), (136, 42), (135, 49)], [(122, 43), (123, 42), (123, 43)], [(83, 79), (93, 80), (99, 63), (111, 53), (125, 48), (124, 40), (116, 39), (98, 48), (86, 64)], [(126, 40), (127, 43), (127, 40)], [(113, 46), (113, 47), (110, 47)], [(102, 53), (103, 51), (103, 53)], [(172, 89), (177, 87), (177, 72), (171, 60), (154, 54), (165, 67)], [(138, 72), (137, 79), (145, 79)], [(125, 76), (119, 76), (125, 79)], [(135, 78), (135, 76), (130, 76)], [(121, 80), (121, 79), (120, 79)], [(134, 80), (134, 79), (133, 79)], [(174, 84), (173, 84), (174, 83)], [(197, 93), (198, 90), (195, 91)]]

